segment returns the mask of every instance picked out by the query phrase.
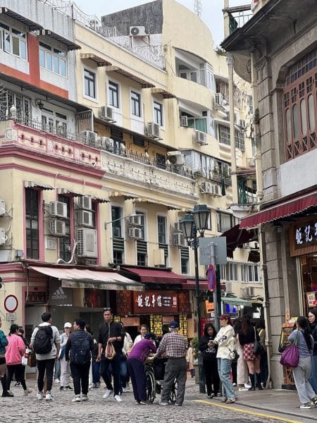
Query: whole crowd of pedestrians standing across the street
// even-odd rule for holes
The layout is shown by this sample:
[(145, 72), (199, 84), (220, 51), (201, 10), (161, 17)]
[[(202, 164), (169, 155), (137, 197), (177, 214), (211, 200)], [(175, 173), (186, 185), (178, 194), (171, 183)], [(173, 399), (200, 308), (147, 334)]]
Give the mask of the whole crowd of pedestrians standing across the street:
[[(33, 350), (37, 364), (37, 399), (54, 400), (51, 390), (54, 381), (59, 390), (73, 390), (74, 402), (88, 400), (89, 389), (99, 388), (101, 379), (106, 385), (103, 398), (113, 396), (122, 402), (122, 393), (132, 384), (135, 402), (147, 405), (146, 374), (144, 362), (149, 355), (166, 357), (166, 366), (160, 405), (168, 405), (170, 391), (178, 385), (175, 405), (181, 406), (185, 396), (187, 370), (194, 376), (194, 348), (179, 333), (177, 321), (170, 321), (168, 333), (157, 340), (142, 325), (139, 335), (132, 341), (123, 323), (113, 320), (113, 312), (105, 308), (104, 321), (94, 338), (84, 319), (66, 322), (60, 334), (52, 324), (49, 312), (42, 314), (42, 322), (35, 327), (30, 345), (24, 338), (23, 328), (12, 324), (8, 336), (1, 331), (0, 319), (0, 379), (2, 396), (11, 397), (11, 383), (23, 388), (23, 395), (31, 393), (25, 381), (25, 353)], [(256, 326), (244, 314), (231, 321), (229, 314), (219, 317), (220, 330), (212, 323), (204, 327), (198, 346), (201, 352), (207, 398), (222, 397), (223, 403), (237, 400), (237, 391), (260, 391), (268, 381), (268, 357), (265, 346), (265, 324)], [(296, 342), (299, 349), (299, 366), (293, 369), (301, 408), (317, 405), (317, 309), (309, 317), (299, 317), (289, 342)], [(261, 354), (256, 345), (261, 344)], [(55, 370), (55, 373), (54, 373)], [(71, 382), (73, 387), (70, 386)]]

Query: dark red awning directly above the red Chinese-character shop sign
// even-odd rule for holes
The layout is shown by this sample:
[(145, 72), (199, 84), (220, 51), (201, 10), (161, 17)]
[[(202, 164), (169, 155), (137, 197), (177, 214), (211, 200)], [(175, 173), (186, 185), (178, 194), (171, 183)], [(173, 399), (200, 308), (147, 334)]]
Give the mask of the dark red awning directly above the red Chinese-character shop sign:
[(185, 283), (187, 278), (175, 274), (170, 270), (159, 270), (159, 269), (142, 269), (135, 267), (120, 266), (121, 271), (128, 271), (135, 276), (138, 276), (140, 282), (147, 283)]

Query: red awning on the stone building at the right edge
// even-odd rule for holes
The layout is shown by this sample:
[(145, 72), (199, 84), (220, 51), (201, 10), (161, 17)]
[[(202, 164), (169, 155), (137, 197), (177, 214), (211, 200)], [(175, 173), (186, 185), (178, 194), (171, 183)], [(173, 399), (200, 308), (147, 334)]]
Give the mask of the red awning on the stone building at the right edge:
[(281, 202), (273, 207), (261, 210), (261, 212), (244, 217), (240, 221), (240, 228), (254, 228), (261, 223), (282, 219), (282, 217), (303, 212), (313, 206), (317, 206), (317, 191), (311, 192), (311, 194), (302, 195), (293, 200)]

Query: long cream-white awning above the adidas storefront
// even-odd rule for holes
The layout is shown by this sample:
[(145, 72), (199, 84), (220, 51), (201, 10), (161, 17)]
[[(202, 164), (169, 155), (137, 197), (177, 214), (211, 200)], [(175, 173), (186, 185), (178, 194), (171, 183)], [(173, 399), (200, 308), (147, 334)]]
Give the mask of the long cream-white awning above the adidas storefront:
[(61, 280), (63, 288), (94, 288), (104, 290), (144, 290), (142, 283), (132, 281), (116, 271), (94, 271), (89, 269), (64, 268), (61, 266), (29, 266), (51, 278)]

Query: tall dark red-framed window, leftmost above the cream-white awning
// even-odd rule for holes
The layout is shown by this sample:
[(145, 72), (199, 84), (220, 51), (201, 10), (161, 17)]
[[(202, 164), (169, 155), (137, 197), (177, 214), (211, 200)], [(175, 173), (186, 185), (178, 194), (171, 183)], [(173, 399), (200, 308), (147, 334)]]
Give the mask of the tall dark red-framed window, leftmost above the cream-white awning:
[(27, 259), (39, 259), (39, 191), (25, 190)]

